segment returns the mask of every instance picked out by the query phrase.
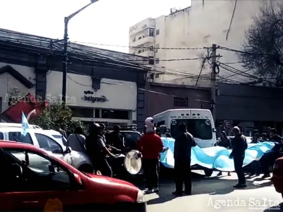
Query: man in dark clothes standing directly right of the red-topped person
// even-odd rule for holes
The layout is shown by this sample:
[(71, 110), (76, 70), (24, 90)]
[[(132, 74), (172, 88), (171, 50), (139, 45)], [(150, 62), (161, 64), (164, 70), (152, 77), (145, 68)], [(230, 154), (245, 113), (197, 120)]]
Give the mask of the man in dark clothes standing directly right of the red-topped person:
[[(174, 171), (175, 171), (175, 195), (192, 194), (192, 174), (191, 174), (191, 150), (196, 146), (193, 135), (187, 132), (186, 125), (179, 125), (179, 135), (174, 143)], [(183, 184), (185, 190), (183, 191)]]

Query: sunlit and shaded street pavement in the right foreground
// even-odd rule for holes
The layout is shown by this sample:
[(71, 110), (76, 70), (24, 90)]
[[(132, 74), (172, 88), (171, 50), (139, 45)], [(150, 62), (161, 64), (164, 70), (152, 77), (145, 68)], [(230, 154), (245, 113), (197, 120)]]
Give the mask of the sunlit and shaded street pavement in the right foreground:
[[(197, 171), (198, 174), (202, 171)], [(213, 173), (210, 178), (195, 177), (193, 180), (193, 195), (175, 198), (171, 195), (174, 191), (172, 182), (161, 182), (158, 194), (148, 194), (148, 211), (162, 212), (198, 212), (198, 211), (283, 211), (281, 194), (277, 193), (270, 180), (261, 177), (248, 178), (245, 189), (233, 189), (237, 183), (237, 176), (216, 177)], [(264, 199), (266, 198), (266, 199)], [(283, 204), (283, 203), (282, 203)], [(230, 205), (230, 206), (228, 206)], [(252, 208), (249, 208), (251, 206)]]

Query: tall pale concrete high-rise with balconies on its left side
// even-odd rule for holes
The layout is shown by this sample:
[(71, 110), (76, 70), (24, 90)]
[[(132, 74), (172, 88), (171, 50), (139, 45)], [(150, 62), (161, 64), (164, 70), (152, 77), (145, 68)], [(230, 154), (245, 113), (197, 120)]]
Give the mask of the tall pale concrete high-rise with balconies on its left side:
[[(245, 30), (257, 15), (260, 6), (266, 1), (238, 1), (229, 30), (234, 0), (199, 1), (192, 0), (192, 6), (176, 10), (171, 9), (169, 15), (158, 18), (148, 18), (129, 29), (129, 46), (131, 54), (150, 57), (155, 65), (155, 82), (167, 82), (186, 85), (196, 85), (202, 60), (179, 60), (205, 57), (206, 49), (158, 49), (211, 47), (213, 43), (233, 49), (241, 49), (245, 40)], [(142, 47), (156, 47), (142, 48)], [(217, 49), (221, 55), (220, 62), (243, 70), (237, 54), (232, 51)], [(174, 61), (174, 59), (177, 59)], [(171, 60), (171, 61), (170, 61)], [(172, 61), (173, 60), (173, 61)], [(179, 61), (178, 61), (179, 60)], [(252, 71), (247, 72), (253, 74)], [(198, 85), (210, 86), (210, 65), (205, 63)], [(218, 75), (219, 81), (229, 83), (249, 82), (253, 77), (239, 71), (231, 72), (223, 68)]]

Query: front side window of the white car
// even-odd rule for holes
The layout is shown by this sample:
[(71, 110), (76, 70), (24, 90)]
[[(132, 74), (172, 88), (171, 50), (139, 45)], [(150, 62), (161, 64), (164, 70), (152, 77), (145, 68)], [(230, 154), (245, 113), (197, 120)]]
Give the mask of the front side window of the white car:
[(51, 151), (52, 153), (63, 154), (62, 147), (52, 138), (38, 133), (35, 133), (35, 137), (40, 148)]

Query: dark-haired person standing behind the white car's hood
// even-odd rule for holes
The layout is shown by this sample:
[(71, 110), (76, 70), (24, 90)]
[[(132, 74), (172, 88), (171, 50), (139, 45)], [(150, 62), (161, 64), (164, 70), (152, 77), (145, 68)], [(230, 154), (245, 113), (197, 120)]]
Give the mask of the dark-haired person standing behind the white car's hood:
[(76, 127), (74, 133), (69, 135), (67, 139), (67, 146), (71, 147), (74, 151), (86, 152), (85, 150), (85, 137), (82, 135), (81, 127)]

